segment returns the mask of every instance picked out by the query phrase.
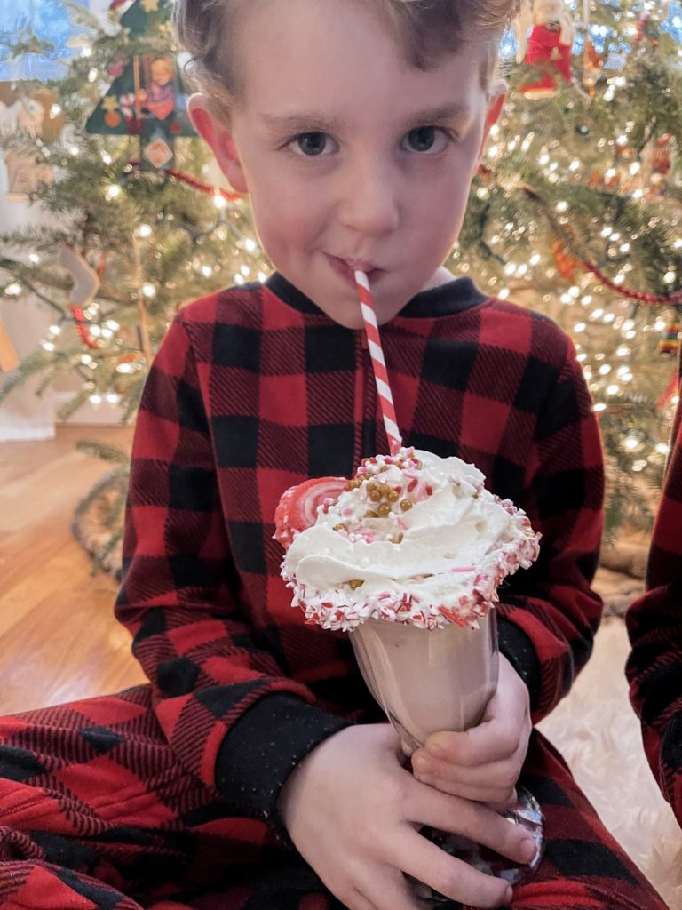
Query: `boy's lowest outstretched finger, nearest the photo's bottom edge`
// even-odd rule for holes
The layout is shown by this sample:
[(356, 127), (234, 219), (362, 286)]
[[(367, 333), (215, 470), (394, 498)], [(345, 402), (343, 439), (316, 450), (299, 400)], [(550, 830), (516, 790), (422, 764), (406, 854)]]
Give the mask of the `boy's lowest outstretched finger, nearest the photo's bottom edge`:
[(478, 872), (416, 831), (411, 834), (406, 838), (401, 854), (396, 855), (396, 864), (406, 875), (462, 904), (498, 907), (510, 899), (511, 887), (503, 879)]

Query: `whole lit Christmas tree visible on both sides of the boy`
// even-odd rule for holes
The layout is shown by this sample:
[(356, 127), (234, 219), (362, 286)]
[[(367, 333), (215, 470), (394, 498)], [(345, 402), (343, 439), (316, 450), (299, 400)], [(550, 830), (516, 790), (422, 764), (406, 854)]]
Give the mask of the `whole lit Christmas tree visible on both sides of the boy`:
[[(78, 14), (90, 38), (49, 86), (59, 135), (4, 142), (43, 168), (31, 197), (56, 225), (0, 237), (4, 293), (36, 294), (55, 320), (0, 396), (75, 370), (65, 419), (106, 398), (132, 420), (177, 308), (270, 271), (246, 202), (214, 186), (188, 136), (167, 0), (114, 6), (125, 9), (114, 29)], [(575, 339), (607, 449), (610, 531), (650, 521), (676, 400), (681, 36), (674, 3), (526, 3), (502, 47), (505, 111), (448, 262)], [(100, 453), (119, 460), (120, 492), (125, 460)]]

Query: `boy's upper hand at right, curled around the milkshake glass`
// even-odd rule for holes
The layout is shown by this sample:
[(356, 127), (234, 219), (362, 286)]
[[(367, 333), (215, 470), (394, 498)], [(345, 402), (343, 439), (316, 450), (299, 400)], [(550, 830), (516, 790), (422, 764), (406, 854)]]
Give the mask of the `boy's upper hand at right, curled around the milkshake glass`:
[(532, 724), (526, 683), (500, 654), (497, 691), (465, 733), (434, 733), (412, 756), (415, 776), (446, 794), (504, 808), (516, 800)]

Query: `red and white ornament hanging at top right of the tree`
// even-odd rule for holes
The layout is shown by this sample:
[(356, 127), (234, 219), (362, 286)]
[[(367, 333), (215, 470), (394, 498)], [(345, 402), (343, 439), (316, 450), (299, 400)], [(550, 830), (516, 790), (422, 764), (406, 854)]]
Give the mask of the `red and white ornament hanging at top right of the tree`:
[(567, 84), (571, 81), (571, 48), (576, 37), (573, 16), (563, 0), (523, 0), (515, 30), (517, 62), (541, 71), (521, 91), (529, 98), (556, 95), (558, 78)]

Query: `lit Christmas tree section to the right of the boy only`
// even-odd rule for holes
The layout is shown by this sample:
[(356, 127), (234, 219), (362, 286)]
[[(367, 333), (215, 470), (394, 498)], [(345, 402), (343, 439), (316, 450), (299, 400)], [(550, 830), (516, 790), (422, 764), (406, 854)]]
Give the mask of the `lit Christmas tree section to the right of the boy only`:
[(607, 450), (607, 531), (647, 529), (677, 401), (680, 5), (536, 0), (516, 37), (452, 268), (573, 337)]

